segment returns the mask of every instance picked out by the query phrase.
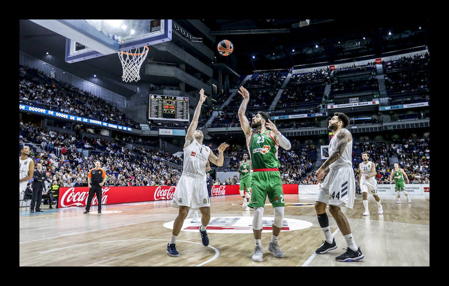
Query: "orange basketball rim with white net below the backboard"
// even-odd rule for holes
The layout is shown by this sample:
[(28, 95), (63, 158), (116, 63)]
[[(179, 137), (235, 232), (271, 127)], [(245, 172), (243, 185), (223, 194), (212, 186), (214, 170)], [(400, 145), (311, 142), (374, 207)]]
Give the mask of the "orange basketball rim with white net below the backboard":
[(134, 51), (119, 51), (118, 55), (123, 67), (122, 79), (125, 82), (130, 82), (132, 80), (138, 81), (140, 79), (140, 67), (143, 61), (147, 57), (150, 49), (148, 46), (138, 47)]

